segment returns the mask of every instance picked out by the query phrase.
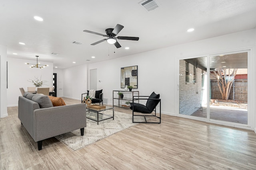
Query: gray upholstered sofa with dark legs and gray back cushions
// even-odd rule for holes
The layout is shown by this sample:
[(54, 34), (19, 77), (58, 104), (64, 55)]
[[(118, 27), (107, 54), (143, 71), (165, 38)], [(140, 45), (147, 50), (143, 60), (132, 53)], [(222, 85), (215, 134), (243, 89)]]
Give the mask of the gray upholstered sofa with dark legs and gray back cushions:
[(37, 142), (38, 150), (41, 150), (44, 139), (76, 129), (80, 129), (83, 136), (86, 127), (86, 105), (53, 107), (48, 96), (25, 93), (24, 97), (19, 96), (18, 118)]

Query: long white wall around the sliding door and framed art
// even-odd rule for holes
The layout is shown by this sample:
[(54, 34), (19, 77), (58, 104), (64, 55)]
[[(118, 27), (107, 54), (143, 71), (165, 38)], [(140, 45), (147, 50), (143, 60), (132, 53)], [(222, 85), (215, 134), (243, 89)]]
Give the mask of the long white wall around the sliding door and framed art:
[[(154, 51), (148, 51), (139, 53), (136, 55), (130, 55), (118, 59), (104, 61), (100, 63), (93, 63), (88, 65), (88, 70), (97, 69), (98, 90), (103, 89), (104, 98), (108, 98), (108, 104), (112, 104), (112, 90), (121, 90), (120, 88), (120, 68), (126, 66), (138, 65), (138, 90), (140, 95), (149, 95), (151, 92), (160, 94), (162, 99), (162, 113), (169, 115), (177, 115), (178, 109), (178, 60), (182, 57), (192, 57), (196, 55), (208, 55), (211, 53), (222, 53), (228, 51), (237, 51), (242, 49), (252, 49), (252, 55), (248, 59), (248, 68), (250, 72), (248, 75), (255, 75), (256, 65), (254, 58), (255, 54), (255, 38), (256, 31), (251, 29), (248, 31), (242, 31), (238, 33), (223, 35), (220, 37), (214, 37), (210, 39), (204, 39), (201, 41), (195, 41), (192, 43), (176, 45)], [(77, 83), (84, 83), (82, 80), (76, 80), (74, 75), (76, 72), (81, 72), (81, 68), (86, 65), (76, 68), (69, 68), (64, 71), (64, 94), (65, 96), (72, 96), (72, 92), (66, 92), (66, 88), (69, 90), (78, 88), (76, 90), (76, 96), (79, 96), (81, 87), (77, 86)], [(71, 71), (71, 69), (73, 71)], [(73, 74), (71, 74), (73, 72)], [(84, 74), (86, 75), (86, 74)], [(89, 80), (89, 79), (88, 79)], [(251, 84), (248, 86), (254, 86), (255, 78), (251, 78)], [(68, 82), (66, 87), (66, 81), (74, 81), (73, 85)], [(256, 102), (255, 89), (250, 88), (248, 96), (251, 96), (251, 106)], [(254, 115), (252, 120), (252, 127), (255, 125), (255, 107), (252, 106), (248, 111)]]

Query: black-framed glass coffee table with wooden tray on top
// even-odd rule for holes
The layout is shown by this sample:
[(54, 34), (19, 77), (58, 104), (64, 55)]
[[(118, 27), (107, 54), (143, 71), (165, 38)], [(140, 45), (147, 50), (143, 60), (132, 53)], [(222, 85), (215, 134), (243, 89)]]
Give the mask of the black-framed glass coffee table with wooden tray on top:
[[(106, 113), (102, 113), (102, 111), (111, 110), (111, 109), (113, 111), (113, 115), (107, 115)], [(104, 120), (111, 119), (111, 118), (113, 118), (113, 120), (114, 120), (114, 107), (106, 106), (106, 108), (102, 108), (102, 109), (95, 109), (95, 108), (87, 107), (86, 108), (86, 118), (96, 121), (97, 125), (99, 124), (100, 121), (104, 121)]]

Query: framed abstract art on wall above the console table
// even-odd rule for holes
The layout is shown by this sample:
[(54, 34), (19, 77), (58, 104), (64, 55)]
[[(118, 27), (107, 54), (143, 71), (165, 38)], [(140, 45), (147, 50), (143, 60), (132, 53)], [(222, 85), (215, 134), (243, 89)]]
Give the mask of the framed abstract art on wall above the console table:
[(121, 68), (121, 88), (125, 88), (126, 85), (138, 88), (138, 66)]

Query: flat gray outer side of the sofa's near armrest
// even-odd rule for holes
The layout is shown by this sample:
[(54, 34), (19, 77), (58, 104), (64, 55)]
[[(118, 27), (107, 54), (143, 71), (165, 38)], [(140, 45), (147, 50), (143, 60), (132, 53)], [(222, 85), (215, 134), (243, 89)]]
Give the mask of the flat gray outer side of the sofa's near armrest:
[(86, 105), (35, 109), (33, 112), (35, 142), (86, 127)]

